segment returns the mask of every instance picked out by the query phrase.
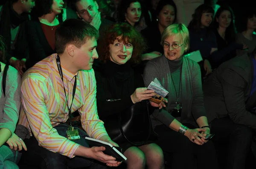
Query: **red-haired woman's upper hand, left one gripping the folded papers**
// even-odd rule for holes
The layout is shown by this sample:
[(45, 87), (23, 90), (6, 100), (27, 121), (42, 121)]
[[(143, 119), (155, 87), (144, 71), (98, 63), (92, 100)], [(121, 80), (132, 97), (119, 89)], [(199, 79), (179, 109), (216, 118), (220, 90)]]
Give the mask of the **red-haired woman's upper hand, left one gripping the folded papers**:
[(147, 90), (147, 87), (137, 88), (131, 95), (131, 101), (135, 104), (154, 96), (154, 90)]

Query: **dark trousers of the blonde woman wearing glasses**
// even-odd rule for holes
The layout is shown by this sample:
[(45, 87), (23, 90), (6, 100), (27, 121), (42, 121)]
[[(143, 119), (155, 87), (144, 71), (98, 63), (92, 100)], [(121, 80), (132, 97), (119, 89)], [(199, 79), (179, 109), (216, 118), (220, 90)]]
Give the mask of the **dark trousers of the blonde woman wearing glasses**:
[[(195, 128), (191, 124), (184, 124), (190, 129)], [(171, 153), (172, 169), (192, 169), (195, 159), (198, 169), (218, 169), (218, 160), (212, 141), (202, 146), (189, 140), (185, 135), (176, 132), (165, 125), (155, 127), (159, 135), (156, 143), (163, 152)]]

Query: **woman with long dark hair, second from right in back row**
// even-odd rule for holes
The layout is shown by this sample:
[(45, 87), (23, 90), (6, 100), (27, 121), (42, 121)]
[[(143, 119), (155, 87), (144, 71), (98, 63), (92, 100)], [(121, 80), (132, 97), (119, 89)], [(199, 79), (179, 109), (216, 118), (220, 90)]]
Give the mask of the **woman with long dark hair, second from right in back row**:
[(225, 54), (218, 58), (212, 58), (212, 69), (235, 57), (236, 49), (245, 49), (247, 45), (236, 43), (236, 30), (233, 23), (234, 14), (229, 6), (221, 6), (215, 14), (212, 28), (216, 36), (217, 48)]

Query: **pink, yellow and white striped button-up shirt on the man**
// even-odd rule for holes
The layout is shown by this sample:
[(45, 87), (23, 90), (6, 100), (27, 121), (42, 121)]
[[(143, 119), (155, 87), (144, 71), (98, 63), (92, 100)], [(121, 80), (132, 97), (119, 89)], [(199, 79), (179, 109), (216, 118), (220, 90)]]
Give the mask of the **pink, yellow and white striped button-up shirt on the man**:
[[(18, 124), (28, 127), (40, 146), (72, 158), (79, 144), (58, 135), (57, 130), (53, 128), (69, 118), (56, 56), (57, 54), (48, 56), (23, 75), (22, 107)], [(69, 106), (72, 101), (74, 77), (77, 75), (72, 113), (79, 111), (82, 127), (91, 138), (99, 139), (103, 135), (108, 135), (97, 113), (96, 80), (93, 69), (79, 70), (78, 73), (73, 74), (63, 66), (61, 68)]]

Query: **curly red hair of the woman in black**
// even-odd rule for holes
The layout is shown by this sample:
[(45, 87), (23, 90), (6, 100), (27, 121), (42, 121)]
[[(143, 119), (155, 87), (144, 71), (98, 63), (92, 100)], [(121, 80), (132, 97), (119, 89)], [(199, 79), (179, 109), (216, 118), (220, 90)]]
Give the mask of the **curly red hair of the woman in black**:
[[(117, 37), (119, 38), (117, 39)], [(97, 47), (99, 60), (105, 63), (110, 59), (109, 45), (113, 44), (116, 39), (125, 44), (131, 43), (133, 51), (129, 62), (132, 64), (140, 63), (140, 56), (145, 50), (145, 42), (141, 34), (128, 23), (115, 23), (100, 36)]]

